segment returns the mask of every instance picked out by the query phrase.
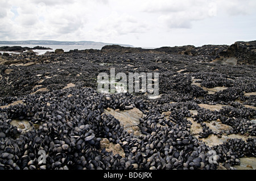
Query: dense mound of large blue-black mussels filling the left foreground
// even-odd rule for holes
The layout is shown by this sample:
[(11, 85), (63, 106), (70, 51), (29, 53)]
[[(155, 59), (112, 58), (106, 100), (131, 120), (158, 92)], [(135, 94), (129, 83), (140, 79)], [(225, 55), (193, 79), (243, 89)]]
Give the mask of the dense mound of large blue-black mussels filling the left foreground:
[[(66, 96), (70, 93), (73, 96)], [(1, 169), (214, 169), (210, 148), (190, 135), (175, 117), (174, 125), (153, 109), (140, 119), (142, 136), (127, 133), (104, 108), (130, 109), (138, 99), (84, 88), (53, 91), (23, 98), (24, 104), (1, 110)], [(130, 107), (129, 107), (130, 106)], [(141, 107), (140, 107), (141, 108)], [(177, 112), (178, 113), (178, 112)], [(34, 127), (21, 134), (11, 125), (26, 119)], [(36, 128), (37, 125), (37, 128)], [(100, 149), (102, 138), (120, 144), (125, 158)], [(39, 151), (46, 151), (46, 164)], [(135, 151), (134, 151), (135, 150)]]

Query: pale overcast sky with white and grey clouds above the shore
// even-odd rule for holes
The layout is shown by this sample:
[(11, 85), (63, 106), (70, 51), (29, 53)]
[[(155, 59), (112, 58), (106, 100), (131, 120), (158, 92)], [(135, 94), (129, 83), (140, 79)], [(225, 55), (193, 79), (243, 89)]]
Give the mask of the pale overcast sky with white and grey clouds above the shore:
[(255, 0), (1, 0), (0, 40), (134, 47), (256, 40)]

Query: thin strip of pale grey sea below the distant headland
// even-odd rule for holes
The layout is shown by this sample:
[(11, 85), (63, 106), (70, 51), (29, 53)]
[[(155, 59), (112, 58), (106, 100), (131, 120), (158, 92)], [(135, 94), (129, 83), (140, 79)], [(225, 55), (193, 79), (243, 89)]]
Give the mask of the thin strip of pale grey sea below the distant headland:
[[(20, 46), (20, 47), (29, 47), (29, 48), (34, 48), (37, 45), (2, 45), (0, 44), (0, 47), (3, 46), (8, 46), (8, 47), (13, 47), (13, 46)], [(33, 50), (34, 52), (36, 52), (36, 54), (40, 55), (40, 54), (44, 54), (47, 51), (48, 52), (54, 52), (55, 49), (63, 49), (64, 52), (69, 52), (69, 50), (74, 50), (74, 49), (78, 49), (78, 50), (84, 50), (84, 49), (101, 49), (104, 46), (98, 46), (98, 45), (38, 45), (40, 47), (46, 47), (46, 48), (51, 48), (51, 50)], [(154, 49), (153, 47), (142, 47), (142, 48), (147, 48), (147, 49)], [(20, 52), (7, 52), (7, 51), (0, 51), (0, 53), (16, 53), (19, 54)]]

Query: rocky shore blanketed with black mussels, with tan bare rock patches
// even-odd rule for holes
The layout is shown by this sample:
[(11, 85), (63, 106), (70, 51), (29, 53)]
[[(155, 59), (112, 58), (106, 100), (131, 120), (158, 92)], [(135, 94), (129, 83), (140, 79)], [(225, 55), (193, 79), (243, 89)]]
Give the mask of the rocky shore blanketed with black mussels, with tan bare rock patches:
[[(256, 41), (1, 54), (0, 169), (256, 169), (255, 61)], [(98, 92), (110, 68), (160, 95)]]

